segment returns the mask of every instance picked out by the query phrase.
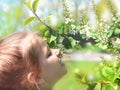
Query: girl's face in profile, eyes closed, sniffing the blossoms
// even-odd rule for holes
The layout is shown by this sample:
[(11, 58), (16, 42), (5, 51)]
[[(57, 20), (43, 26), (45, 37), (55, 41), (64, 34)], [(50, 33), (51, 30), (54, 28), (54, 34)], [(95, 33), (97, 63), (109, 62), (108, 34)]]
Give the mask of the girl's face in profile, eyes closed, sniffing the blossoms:
[(60, 61), (60, 50), (50, 49), (43, 40), (41, 49), (41, 78), (54, 84), (66, 73), (65, 65)]

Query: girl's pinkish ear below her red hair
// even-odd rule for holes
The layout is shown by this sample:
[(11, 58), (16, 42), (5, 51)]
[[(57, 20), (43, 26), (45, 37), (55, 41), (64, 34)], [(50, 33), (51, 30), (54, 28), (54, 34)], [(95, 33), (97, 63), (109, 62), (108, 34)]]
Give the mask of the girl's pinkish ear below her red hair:
[(43, 84), (44, 83), (44, 79), (38, 78), (34, 72), (28, 73), (27, 80), (31, 84)]

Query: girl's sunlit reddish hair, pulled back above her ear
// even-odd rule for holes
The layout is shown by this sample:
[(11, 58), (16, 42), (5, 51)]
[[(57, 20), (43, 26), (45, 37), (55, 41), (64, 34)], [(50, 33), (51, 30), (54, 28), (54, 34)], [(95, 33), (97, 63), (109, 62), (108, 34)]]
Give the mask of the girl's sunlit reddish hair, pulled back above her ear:
[(40, 37), (18, 32), (0, 40), (0, 90), (29, 90), (27, 74), (40, 75)]

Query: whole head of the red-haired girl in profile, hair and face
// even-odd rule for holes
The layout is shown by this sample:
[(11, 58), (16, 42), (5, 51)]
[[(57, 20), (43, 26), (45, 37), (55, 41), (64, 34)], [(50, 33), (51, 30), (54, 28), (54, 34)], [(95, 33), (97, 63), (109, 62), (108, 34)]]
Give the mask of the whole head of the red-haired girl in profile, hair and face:
[(36, 33), (18, 32), (0, 40), (0, 90), (50, 87), (65, 73), (60, 51), (50, 49)]

